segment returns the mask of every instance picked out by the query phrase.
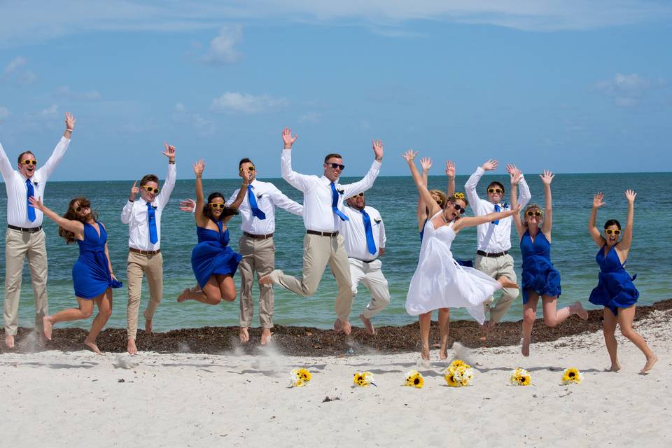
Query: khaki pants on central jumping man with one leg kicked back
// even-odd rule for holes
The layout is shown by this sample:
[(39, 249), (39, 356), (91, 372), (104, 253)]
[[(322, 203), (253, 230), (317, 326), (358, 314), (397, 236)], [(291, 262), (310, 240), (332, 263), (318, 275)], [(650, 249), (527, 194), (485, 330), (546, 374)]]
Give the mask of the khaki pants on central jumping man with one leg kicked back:
[(353, 296), (348, 255), (345, 252), (341, 235), (323, 237), (307, 233), (303, 238), (303, 278), (297, 279), (290, 275), (283, 275), (278, 282), (298, 295), (314, 295), (327, 263), (338, 284), (338, 295), (334, 306), (336, 316), (340, 321), (347, 322), (350, 318)]

